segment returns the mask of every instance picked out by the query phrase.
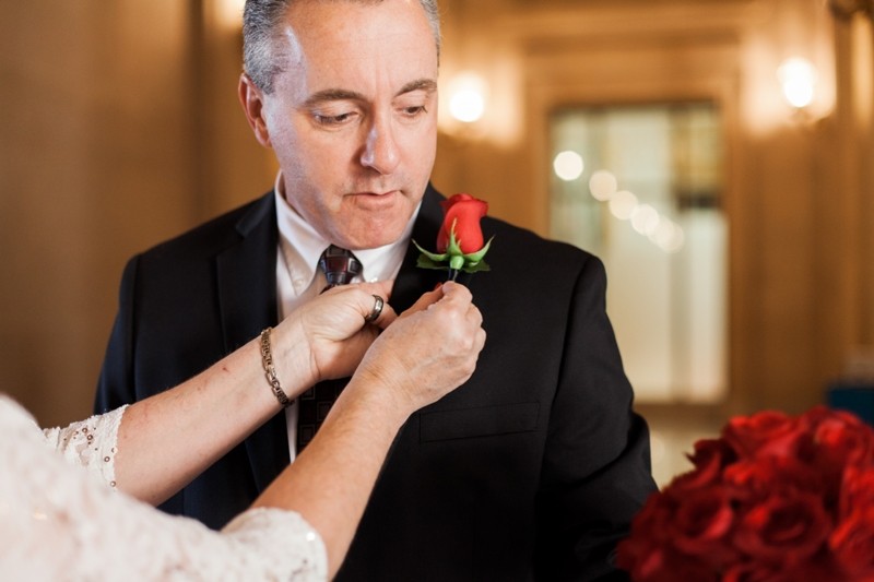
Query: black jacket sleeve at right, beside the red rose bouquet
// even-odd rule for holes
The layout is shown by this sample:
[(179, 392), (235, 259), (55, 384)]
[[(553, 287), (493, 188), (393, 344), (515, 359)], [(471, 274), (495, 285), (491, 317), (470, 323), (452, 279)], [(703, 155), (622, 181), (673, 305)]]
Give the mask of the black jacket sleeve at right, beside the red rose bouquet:
[(631, 409), (605, 295), (604, 266), (590, 258), (568, 309), (538, 494), (542, 580), (626, 580), (613, 566), (615, 546), (656, 489), (649, 432)]

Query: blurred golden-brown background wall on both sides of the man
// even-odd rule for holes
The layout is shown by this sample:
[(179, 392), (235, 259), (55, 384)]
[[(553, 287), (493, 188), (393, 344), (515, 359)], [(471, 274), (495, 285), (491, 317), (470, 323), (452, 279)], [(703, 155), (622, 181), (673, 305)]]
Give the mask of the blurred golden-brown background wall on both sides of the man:
[[(544, 236), (556, 111), (718, 107), (725, 387), (639, 399), (657, 425), (800, 412), (874, 344), (872, 9), (836, 3), (440, 2), (434, 182)], [(125, 261), (272, 186), (236, 99), (239, 4), (0, 4), (0, 391), (44, 425), (91, 411)], [(804, 108), (781, 94), (789, 57), (816, 69)], [(471, 74), (483, 114), (459, 121)]]

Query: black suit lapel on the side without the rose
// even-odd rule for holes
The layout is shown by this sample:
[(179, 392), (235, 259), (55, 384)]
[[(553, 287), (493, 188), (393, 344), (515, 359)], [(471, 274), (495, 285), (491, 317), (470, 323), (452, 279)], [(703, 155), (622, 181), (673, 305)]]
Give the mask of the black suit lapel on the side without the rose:
[[(237, 223), (240, 238), (215, 260), (218, 310), (226, 353), (279, 320), (276, 306), (276, 211), (273, 192)], [(268, 390), (267, 380), (263, 387)], [(285, 415), (277, 414), (246, 439), (255, 483), (262, 491), (288, 464)]]

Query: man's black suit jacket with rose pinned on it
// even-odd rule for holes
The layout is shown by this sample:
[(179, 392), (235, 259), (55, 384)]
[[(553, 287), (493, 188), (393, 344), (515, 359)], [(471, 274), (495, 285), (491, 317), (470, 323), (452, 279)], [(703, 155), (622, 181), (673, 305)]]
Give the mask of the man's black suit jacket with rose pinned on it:
[[(426, 248), (440, 200), (429, 187), (414, 226)], [(623, 579), (615, 544), (654, 484), (603, 265), (498, 219), (483, 231), (492, 270), (466, 281), (487, 332), (476, 371), (399, 432), (338, 580)], [(172, 388), (276, 324), (276, 240), (270, 192), (131, 259), (97, 412)], [(441, 278), (417, 254), (411, 244), (398, 312)], [(277, 414), (162, 509), (221, 527), (287, 463)]]

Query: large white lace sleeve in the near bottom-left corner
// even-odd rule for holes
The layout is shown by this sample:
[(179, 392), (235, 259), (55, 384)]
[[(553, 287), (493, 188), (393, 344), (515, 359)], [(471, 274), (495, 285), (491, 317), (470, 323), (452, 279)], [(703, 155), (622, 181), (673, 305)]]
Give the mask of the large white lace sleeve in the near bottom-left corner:
[(310, 581), (327, 577), (321, 537), (297, 513), (250, 510), (214, 532), (200, 522), (166, 515), (95, 486), (80, 467), (47, 450), (43, 437), (33, 418), (0, 394), (0, 571), (4, 580)]

